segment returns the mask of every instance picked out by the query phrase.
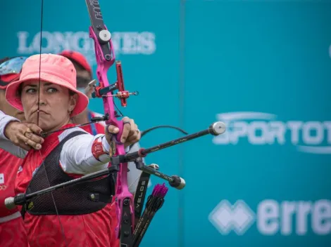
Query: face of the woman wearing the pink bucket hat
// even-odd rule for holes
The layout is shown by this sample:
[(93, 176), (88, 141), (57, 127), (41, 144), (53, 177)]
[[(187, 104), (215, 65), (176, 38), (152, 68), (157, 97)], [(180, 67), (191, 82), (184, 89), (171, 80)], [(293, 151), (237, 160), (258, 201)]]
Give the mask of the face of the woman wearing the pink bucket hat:
[(23, 83), (21, 91), (25, 118), (28, 122), (38, 123), (45, 132), (61, 128), (69, 123), (69, 112), (76, 105), (76, 96), (70, 95), (68, 88), (44, 81), (40, 84), (39, 93), (39, 81), (26, 81)]

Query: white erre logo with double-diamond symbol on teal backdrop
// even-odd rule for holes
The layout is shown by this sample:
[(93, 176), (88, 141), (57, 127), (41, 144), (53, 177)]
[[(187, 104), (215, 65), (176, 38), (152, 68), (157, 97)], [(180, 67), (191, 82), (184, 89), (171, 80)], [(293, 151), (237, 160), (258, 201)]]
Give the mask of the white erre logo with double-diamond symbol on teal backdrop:
[[(208, 217), (211, 224), (223, 235), (235, 232), (243, 235), (256, 222), (257, 231), (266, 236), (304, 236), (331, 233), (331, 201), (275, 201), (266, 199), (252, 210), (244, 201), (233, 205), (223, 200)], [(253, 230), (253, 229), (251, 229)]]

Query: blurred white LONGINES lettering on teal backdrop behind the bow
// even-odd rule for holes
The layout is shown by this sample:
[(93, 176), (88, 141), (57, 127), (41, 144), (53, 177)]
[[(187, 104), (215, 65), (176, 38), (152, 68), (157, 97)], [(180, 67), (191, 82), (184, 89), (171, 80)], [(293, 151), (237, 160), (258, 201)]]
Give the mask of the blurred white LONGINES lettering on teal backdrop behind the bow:
[[(40, 32), (17, 32), (18, 55), (39, 53)], [(120, 55), (152, 55), (156, 52), (154, 32), (111, 33), (116, 58)], [(79, 51), (90, 65), (96, 65), (94, 41), (89, 32), (42, 32), (42, 53), (60, 53), (63, 50)]]

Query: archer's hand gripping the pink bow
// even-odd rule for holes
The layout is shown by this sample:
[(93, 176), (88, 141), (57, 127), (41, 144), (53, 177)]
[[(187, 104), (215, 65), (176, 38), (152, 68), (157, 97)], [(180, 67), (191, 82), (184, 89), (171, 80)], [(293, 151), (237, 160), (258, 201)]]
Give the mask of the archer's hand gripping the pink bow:
[[(123, 117), (123, 133), (120, 137), (120, 142), (124, 144), (124, 147), (128, 147), (136, 142), (138, 142), (141, 138), (140, 131), (138, 129), (137, 124), (133, 119), (129, 119), (127, 116)], [(107, 130), (108, 128), (108, 130)], [(110, 144), (111, 143), (111, 134), (117, 134), (120, 131), (117, 127), (113, 125), (106, 126), (106, 140)]]

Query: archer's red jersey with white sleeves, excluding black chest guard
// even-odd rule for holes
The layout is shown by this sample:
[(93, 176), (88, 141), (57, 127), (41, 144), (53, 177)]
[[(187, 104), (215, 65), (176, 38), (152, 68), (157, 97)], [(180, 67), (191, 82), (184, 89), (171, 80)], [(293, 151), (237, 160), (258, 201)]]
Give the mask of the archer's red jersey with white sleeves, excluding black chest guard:
[[(24, 158), (23, 164), (15, 179), (15, 194), (25, 193), (34, 172), (42, 164), (46, 156), (58, 145), (63, 138), (81, 128), (70, 128), (58, 131), (44, 138), (42, 149), (31, 149), (29, 152), (13, 145), (4, 136), (4, 126), (14, 120), (11, 116), (0, 112), (0, 148), (6, 149), (15, 156)], [(63, 128), (73, 126), (68, 124)], [(99, 171), (108, 166), (109, 155), (101, 154), (96, 159), (92, 152), (95, 140), (99, 140), (104, 152), (109, 150), (104, 135), (77, 135), (71, 138), (61, 150), (60, 162), (63, 171), (68, 175), (85, 175)], [(20, 208), (19, 208), (20, 209)], [(111, 223), (113, 207), (108, 204), (103, 210), (85, 215), (31, 215), (25, 213), (25, 229), (30, 246), (95, 246), (113, 247), (113, 225)], [(63, 231), (62, 231), (63, 229)]]

